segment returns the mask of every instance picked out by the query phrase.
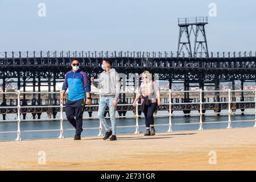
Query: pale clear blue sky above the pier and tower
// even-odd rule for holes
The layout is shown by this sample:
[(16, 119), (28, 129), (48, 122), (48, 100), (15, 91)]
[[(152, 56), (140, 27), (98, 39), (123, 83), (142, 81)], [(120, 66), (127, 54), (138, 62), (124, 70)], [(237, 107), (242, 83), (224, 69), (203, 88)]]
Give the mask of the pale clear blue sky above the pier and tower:
[(254, 0), (0, 0), (0, 51), (176, 51), (177, 18), (208, 16), (209, 3), (209, 51), (256, 51)]

